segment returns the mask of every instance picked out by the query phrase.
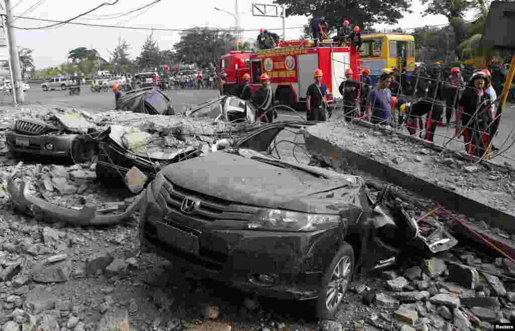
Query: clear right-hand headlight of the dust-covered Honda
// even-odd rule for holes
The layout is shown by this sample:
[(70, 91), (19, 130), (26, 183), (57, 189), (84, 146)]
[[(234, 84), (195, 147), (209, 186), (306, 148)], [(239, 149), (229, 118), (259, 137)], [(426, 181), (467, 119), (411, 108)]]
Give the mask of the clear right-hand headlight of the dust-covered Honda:
[(308, 214), (280, 209), (266, 209), (256, 213), (248, 224), (251, 230), (317, 231), (340, 223), (339, 215)]

